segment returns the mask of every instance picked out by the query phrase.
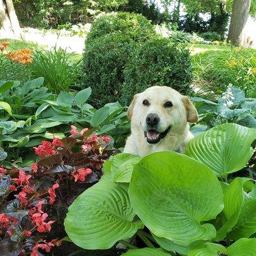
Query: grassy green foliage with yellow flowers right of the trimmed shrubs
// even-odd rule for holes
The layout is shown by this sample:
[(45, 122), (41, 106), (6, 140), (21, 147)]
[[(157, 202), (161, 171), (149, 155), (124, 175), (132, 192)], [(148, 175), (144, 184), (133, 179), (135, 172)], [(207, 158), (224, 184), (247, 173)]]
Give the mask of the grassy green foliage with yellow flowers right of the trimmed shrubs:
[(204, 92), (220, 94), (233, 84), (247, 97), (256, 97), (256, 50), (230, 45), (190, 45), (193, 84)]

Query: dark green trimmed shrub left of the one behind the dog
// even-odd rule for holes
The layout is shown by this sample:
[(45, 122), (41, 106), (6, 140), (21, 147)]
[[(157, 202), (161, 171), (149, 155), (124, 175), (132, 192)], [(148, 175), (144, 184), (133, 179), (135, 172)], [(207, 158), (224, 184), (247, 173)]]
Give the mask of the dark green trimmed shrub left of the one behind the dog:
[(120, 97), (124, 66), (134, 42), (121, 33), (95, 38), (84, 50), (84, 86), (92, 87), (90, 103), (100, 107)]

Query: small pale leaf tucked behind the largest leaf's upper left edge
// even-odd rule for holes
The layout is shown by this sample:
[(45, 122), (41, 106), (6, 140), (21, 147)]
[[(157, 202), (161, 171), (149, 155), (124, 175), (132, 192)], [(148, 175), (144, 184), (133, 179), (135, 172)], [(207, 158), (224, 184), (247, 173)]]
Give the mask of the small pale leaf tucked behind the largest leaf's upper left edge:
[(115, 182), (130, 182), (134, 164), (139, 163), (141, 157), (133, 157), (122, 163), (113, 175)]

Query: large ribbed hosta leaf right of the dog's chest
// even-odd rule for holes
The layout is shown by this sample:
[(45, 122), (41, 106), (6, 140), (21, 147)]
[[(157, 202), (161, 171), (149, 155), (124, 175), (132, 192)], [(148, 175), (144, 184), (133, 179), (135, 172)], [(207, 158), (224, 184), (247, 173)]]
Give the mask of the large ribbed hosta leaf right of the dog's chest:
[(222, 124), (189, 141), (186, 154), (209, 166), (219, 177), (241, 170), (252, 157), (255, 129)]

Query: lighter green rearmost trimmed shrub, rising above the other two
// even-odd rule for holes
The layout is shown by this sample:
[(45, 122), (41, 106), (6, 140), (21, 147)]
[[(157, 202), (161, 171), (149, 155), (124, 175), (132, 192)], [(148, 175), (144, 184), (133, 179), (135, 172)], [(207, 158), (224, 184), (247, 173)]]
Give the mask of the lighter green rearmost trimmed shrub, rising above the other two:
[(156, 35), (154, 26), (140, 14), (129, 12), (108, 13), (102, 15), (92, 24), (87, 41), (108, 35), (122, 33), (136, 42), (144, 42)]

